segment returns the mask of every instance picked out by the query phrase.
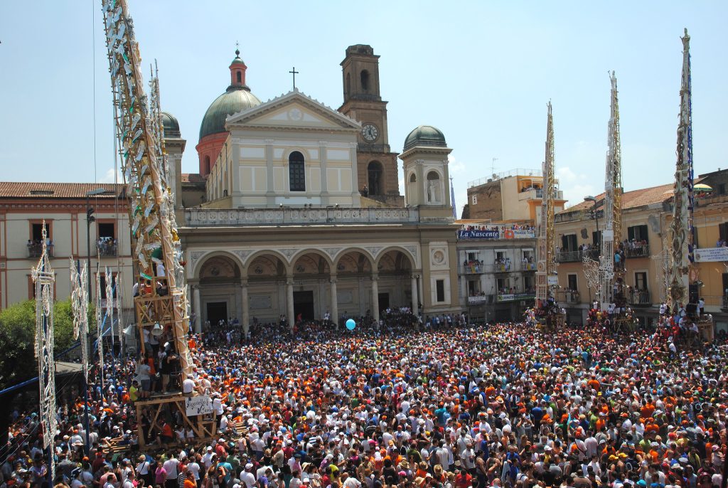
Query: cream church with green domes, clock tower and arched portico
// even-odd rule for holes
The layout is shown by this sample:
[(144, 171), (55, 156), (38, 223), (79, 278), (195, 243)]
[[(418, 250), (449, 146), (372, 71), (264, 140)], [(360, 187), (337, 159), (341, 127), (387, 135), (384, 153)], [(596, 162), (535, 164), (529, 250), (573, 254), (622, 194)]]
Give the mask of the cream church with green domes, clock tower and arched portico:
[[(403, 154), (392, 152), (379, 56), (347, 48), (344, 103), (334, 110), (298, 90), (261, 103), (236, 54), (230, 86), (202, 121), (199, 176), (181, 174), (181, 137), (167, 148), (194, 328), (327, 312), (336, 322), (378, 319), (388, 307), (423, 318), (459, 312), (451, 149), (435, 127), (420, 126)], [(178, 136), (175, 125), (165, 119), (165, 134)]]

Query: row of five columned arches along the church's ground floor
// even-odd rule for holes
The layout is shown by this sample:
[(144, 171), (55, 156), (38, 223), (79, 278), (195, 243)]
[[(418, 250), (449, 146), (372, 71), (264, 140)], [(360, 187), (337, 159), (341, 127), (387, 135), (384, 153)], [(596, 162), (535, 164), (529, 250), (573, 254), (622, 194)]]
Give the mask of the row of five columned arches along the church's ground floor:
[(422, 297), (420, 272), (413, 256), (402, 248), (376, 254), (365, 249), (345, 249), (331, 258), (308, 249), (290, 257), (279, 251), (249, 253), (245, 260), (228, 252), (210, 252), (194, 266), (191, 286), (194, 328), (237, 318), (246, 327), (277, 322), (285, 315), (320, 319), (326, 312), (339, 323), (341, 317), (367, 312), (379, 319), (387, 307), (413, 307)]

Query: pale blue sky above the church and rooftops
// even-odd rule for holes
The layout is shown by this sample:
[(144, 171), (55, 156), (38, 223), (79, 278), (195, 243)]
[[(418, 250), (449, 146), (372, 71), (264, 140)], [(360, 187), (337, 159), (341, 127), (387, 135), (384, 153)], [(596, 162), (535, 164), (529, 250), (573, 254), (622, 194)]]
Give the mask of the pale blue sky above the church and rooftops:
[[(392, 149), (417, 125), (439, 127), (453, 149), (459, 208), (494, 157), (496, 172), (540, 168), (549, 99), (561, 189), (572, 204), (600, 192), (614, 69), (625, 189), (668, 183), (684, 27), (695, 169), (728, 167), (725, 1), (130, 0), (130, 13), (143, 62), (159, 63), (163, 109), (188, 141), (184, 172), (197, 172), (199, 124), (229, 84), (239, 41), (258, 98), (290, 90), (296, 66), (298, 88), (333, 108), (344, 50), (371, 44)], [(113, 181), (103, 37), (100, 0), (0, 2), (2, 178)]]

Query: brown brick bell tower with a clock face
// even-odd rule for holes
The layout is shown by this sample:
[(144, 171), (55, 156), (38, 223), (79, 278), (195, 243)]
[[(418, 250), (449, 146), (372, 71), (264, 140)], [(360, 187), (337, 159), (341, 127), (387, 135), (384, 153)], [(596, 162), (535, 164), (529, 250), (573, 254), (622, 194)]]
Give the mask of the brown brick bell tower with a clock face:
[(379, 92), (379, 55), (367, 44), (347, 47), (341, 61), (344, 103), (339, 111), (361, 122), (357, 176), (363, 196), (402, 207), (397, 183), (397, 153), (389, 148), (387, 102)]

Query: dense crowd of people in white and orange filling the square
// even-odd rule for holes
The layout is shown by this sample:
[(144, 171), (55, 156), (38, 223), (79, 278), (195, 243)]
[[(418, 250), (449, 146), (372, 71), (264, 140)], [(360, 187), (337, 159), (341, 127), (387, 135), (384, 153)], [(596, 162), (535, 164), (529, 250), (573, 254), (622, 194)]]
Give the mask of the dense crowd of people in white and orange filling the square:
[[(179, 412), (136, 412), (140, 365), (109, 358), (103, 388), (98, 380), (90, 386), (88, 431), (82, 398), (59, 405), (53, 481), (71, 488), (721, 484), (724, 342), (675, 349), (664, 326), (629, 334), (566, 326), (553, 334), (523, 323), (472, 326), (464, 315), (437, 326), (426, 318), (424, 328), (408, 323), (408, 314), (390, 310), (384, 327), (357, 323), (354, 331), (302, 324), (293, 335), (261, 326), (250, 337), (229, 335), (232, 328), (191, 337), (195, 366), (183, 388), (210, 396), (214, 438), (197, 438)], [(12, 420), (0, 486), (43, 486), (43, 426), (28, 405)]]

